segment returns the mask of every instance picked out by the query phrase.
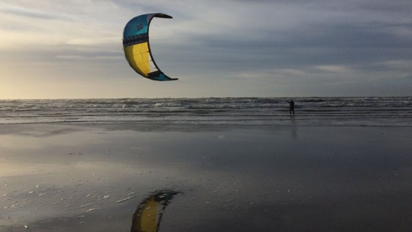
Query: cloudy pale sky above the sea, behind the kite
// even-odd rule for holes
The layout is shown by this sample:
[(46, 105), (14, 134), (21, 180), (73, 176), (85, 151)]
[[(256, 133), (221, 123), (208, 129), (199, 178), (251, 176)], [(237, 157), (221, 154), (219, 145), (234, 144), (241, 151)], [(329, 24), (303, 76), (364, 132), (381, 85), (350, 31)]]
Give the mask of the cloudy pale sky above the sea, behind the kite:
[[(410, 0), (0, 0), (0, 99), (412, 95)], [(153, 19), (139, 76), (124, 25)]]

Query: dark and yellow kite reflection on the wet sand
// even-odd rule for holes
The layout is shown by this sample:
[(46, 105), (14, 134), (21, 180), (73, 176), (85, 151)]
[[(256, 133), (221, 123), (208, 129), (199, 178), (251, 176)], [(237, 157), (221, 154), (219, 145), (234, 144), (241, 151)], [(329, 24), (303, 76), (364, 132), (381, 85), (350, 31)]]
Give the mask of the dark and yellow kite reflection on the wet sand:
[(165, 207), (180, 192), (159, 190), (142, 200), (133, 214), (131, 232), (157, 232)]

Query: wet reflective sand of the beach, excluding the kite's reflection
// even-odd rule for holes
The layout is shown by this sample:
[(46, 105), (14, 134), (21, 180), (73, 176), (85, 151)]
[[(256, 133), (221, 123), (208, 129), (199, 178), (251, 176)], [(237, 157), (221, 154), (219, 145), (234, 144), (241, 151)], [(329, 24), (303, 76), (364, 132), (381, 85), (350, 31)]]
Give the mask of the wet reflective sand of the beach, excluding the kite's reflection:
[(409, 231), (412, 128), (1, 125), (0, 231)]

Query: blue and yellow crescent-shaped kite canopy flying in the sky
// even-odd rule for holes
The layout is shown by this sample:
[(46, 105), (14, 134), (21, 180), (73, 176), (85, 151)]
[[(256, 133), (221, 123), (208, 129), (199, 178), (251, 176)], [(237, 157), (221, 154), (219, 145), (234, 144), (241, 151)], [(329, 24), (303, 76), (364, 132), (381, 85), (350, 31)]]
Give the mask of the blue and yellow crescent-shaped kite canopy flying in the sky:
[(149, 25), (153, 18), (173, 19), (167, 14), (142, 14), (126, 24), (123, 32), (124, 56), (137, 73), (151, 80), (177, 80), (160, 71), (149, 45)]

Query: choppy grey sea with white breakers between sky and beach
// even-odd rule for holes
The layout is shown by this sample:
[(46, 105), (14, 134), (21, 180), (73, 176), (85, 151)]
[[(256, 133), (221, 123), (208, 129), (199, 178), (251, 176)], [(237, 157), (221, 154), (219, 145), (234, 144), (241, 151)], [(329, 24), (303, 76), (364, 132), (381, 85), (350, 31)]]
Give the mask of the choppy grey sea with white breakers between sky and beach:
[(0, 124), (412, 126), (412, 97), (0, 100)]

